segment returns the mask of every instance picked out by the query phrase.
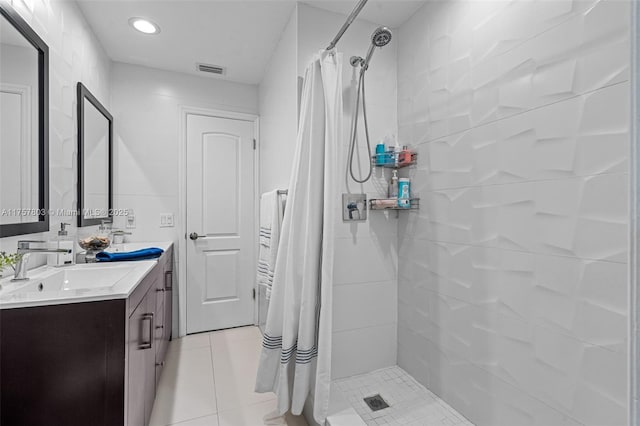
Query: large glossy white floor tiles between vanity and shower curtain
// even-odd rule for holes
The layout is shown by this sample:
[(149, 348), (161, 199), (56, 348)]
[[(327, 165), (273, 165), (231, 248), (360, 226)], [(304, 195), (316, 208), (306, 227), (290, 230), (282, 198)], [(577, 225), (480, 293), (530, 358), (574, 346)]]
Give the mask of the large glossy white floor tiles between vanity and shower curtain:
[[(253, 392), (262, 335), (241, 327), (176, 339), (169, 345), (150, 426), (260, 426), (273, 393)], [(274, 423), (270, 423), (274, 424)], [(307, 426), (288, 415), (289, 426)]]

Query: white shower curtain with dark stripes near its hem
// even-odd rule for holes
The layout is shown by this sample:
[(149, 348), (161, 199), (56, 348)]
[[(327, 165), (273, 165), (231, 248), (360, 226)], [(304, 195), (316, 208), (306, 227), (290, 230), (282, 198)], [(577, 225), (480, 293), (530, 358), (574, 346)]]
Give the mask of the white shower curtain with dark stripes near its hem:
[(256, 391), (276, 393), (278, 412), (302, 412), (314, 395), (324, 424), (331, 385), (331, 307), (342, 55), (321, 51), (305, 72), (287, 209), (267, 314)]

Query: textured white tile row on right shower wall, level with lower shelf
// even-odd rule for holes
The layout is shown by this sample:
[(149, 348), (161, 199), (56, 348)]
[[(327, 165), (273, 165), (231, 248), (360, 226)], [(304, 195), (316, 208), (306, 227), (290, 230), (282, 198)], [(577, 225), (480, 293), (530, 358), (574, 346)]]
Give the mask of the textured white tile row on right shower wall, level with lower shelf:
[[(421, 193), (418, 218), (428, 223), (412, 234), (626, 262), (628, 180), (627, 173), (617, 173)], [(411, 229), (409, 224), (405, 231)]]

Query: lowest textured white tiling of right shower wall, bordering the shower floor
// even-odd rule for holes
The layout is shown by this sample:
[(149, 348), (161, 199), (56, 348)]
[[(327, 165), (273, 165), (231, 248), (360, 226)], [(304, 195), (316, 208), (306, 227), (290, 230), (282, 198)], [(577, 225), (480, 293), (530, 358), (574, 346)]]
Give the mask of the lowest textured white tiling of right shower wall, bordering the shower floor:
[[(419, 375), (446, 399), (465, 407), (476, 423), (574, 424), (571, 418), (585, 421), (581, 418), (583, 399), (592, 398), (597, 404), (602, 398), (607, 415), (612, 414), (611, 423), (598, 423), (595, 417), (586, 423), (623, 424), (615, 420), (624, 413), (626, 388), (620, 386), (626, 371), (623, 353), (537, 328), (530, 341), (483, 338), (484, 343), (495, 345), (495, 360), (478, 364), (476, 354), (473, 358), (461, 357), (455, 348), (442, 345), (437, 340), (440, 337), (429, 339), (400, 327), (400, 366), (414, 377)], [(612, 366), (611, 375), (601, 363)], [(485, 395), (476, 393), (479, 391)], [(523, 423), (513, 418), (512, 410), (527, 420)]]

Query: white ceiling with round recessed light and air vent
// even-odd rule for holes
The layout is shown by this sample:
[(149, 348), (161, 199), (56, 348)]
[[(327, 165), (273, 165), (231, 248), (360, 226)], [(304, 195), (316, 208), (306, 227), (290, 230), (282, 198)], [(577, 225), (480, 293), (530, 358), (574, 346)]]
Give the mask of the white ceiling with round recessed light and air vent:
[[(305, 1), (348, 14), (356, 0)], [(294, 0), (78, 0), (89, 25), (111, 59), (195, 75), (196, 63), (226, 68), (212, 76), (258, 84), (295, 7)], [(359, 18), (397, 27), (424, 0), (369, 0)], [(144, 35), (128, 24), (144, 17), (160, 34)], [(336, 28), (336, 32), (338, 28)]]

